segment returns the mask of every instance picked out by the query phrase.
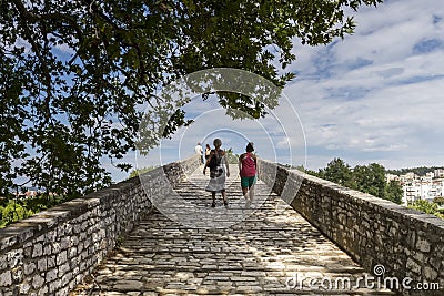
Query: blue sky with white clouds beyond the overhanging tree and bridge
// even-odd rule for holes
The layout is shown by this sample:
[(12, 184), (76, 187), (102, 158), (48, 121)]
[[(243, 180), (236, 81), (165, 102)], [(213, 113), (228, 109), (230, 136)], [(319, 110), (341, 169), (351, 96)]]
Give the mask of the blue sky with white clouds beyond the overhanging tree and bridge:
[[(444, 165), (444, 6), (390, 0), (353, 13), (354, 34), (329, 45), (294, 40), (296, 78), (281, 105), (261, 121), (233, 121), (209, 100), (186, 109), (195, 123), (138, 167), (192, 155), (196, 142), (242, 153), (249, 141), (268, 160), (317, 171), (334, 157), (351, 166)], [(122, 173), (113, 171), (119, 181)]]

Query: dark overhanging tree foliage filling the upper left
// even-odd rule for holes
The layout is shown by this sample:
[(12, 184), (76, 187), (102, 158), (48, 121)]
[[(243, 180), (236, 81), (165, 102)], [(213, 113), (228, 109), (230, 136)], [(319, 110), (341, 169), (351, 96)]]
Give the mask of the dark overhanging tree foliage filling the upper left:
[[(154, 140), (189, 123), (181, 105), (157, 96), (159, 88), (216, 67), (283, 86), (293, 74), (275, 64), (294, 61), (294, 38), (310, 45), (343, 38), (354, 29), (347, 8), (380, 2), (0, 0), (2, 194), (20, 185), (18, 176), (68, 196), (109, 184), (101, 162), (130, 169), (121, 159), (135, 147), (140, 106), (173, 110)], [(264, 114), (250, 98), (219, 100)]]

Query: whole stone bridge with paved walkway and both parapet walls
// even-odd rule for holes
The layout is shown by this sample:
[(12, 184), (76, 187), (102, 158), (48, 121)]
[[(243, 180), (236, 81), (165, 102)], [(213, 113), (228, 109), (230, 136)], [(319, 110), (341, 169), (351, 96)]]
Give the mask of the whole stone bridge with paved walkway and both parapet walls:
[(233, 166), (212, 208), (201, 170), (0, 229), (0, 295), (444, 295), (443, 221), (263, 160), (253, 203)]

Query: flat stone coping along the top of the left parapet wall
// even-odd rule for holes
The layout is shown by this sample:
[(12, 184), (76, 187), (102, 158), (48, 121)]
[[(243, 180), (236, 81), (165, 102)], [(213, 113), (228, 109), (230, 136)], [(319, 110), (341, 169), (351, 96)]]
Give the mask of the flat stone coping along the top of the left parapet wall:
[[(192, 160), (190, 156), (185, 160), (169, 163), (159, 166), (150, 172), (142, 174), (142, 176), (150, 176), (163, 173), (169, 166), (174, 166)], [(6, 252), (10, 248), (18, 247), (26, 243), (29, 238), (54, 228), (57, 225), (67, 222), (73, 217), (78, 217), (89, 210), (98, 206), (101, 202), (108, 198), (114, 198), (121, 195), (131, 187), (140, 185), (140, 177), (132, 178), (112, 184), (111, 186), (87, 194), (84, 197), (75, 198), (49, 210), (39, 212), (28, 218), (14, 222), (4, 228), (0, 229), (0, 252)]]

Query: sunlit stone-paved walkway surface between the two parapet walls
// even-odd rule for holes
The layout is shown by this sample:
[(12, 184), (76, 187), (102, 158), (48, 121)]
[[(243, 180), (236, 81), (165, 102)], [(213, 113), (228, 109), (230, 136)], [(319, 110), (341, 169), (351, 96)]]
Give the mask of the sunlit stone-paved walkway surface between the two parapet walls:
[(224, 213), (228, 220), (230, 213), (245, 214), (243, 221), (193, 228), (154, 210), (71, 295), (395, 295), (341, 290), (341, 280), (336, 288), (337, 278), (349, 278), (353, 287), (369, 275), (262, 182), (255, 202), (246, 204), (239, 177), (228, 180), (226, 208), (220, 196), (211, 207), (201, 171), (176, 192), (206, 213)]

